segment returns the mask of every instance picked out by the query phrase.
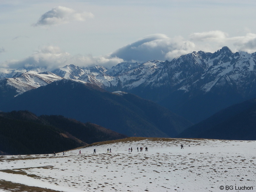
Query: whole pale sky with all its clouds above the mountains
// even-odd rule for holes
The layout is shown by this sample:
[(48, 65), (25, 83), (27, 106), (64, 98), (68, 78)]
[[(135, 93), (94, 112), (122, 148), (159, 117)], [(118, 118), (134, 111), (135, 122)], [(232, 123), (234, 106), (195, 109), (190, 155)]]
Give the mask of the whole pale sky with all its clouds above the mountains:
[(0, 0), (0, 71), (256, 52), (255, 0)]

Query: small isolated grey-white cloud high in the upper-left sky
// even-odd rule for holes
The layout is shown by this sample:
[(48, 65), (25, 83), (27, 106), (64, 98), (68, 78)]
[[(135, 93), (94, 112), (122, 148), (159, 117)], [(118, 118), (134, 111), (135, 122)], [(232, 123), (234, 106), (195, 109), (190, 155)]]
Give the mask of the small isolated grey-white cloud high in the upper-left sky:
[(93, 18), (90, 12), (76, 12), (73, 9), (63, 6), (57, 6), (43, 14), (34, 26), (49, 26), (69, 23), (70, 21), (85, 21), (87, 18)]

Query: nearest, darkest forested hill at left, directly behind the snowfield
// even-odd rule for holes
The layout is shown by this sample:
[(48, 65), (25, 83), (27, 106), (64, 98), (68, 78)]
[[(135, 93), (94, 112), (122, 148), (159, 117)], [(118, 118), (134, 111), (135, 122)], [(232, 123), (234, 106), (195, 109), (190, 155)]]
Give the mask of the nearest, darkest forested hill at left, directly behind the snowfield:
[(33, 121), (0, 117), (0, 151), (7, 154), (48, 154), (82, 146), (63, 131)]

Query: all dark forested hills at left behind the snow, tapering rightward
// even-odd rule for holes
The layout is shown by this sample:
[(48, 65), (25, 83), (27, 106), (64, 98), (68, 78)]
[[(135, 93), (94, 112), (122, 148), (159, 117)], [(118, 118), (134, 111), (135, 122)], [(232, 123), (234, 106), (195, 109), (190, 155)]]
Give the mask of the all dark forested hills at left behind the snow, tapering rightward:
[(4, 154), (49, 154), (125, 137), (62, 116), (37, 117), (28, 111), (0, 113), (0, 151)]

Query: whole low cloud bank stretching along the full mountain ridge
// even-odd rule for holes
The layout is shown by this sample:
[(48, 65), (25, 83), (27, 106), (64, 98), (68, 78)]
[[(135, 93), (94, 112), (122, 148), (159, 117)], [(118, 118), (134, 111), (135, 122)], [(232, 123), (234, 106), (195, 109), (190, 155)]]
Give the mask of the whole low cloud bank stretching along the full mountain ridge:
[[(146, 62), (148, 60), (172, 60), (193, 51), (214, 53), (223, 46), (228, 46), (233, 52), (256, 52), (256, 34), (247, 33), (245, 36), (229, 37), (221, 31), (193, 33), (189, 39), (178, 36), (167, 37), (164, 34), (145, 36), (134, 43), (116, 51), (97, 57), (92, 55), (71, 55), (56, 46), (39, 48), (31, 56), (21, 60), (8, 60), (0, 63), (2, 69), (38, 68), (38, 71), (52, 71), (65, 65), (74, 64), (79, 67), (101, 65), (108, 69), (121, 62)], [(4, 51), (4, 48), (0, 51)]]

